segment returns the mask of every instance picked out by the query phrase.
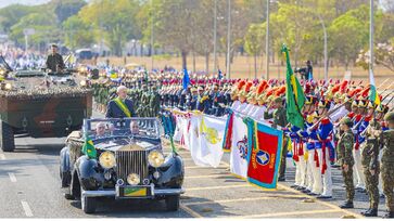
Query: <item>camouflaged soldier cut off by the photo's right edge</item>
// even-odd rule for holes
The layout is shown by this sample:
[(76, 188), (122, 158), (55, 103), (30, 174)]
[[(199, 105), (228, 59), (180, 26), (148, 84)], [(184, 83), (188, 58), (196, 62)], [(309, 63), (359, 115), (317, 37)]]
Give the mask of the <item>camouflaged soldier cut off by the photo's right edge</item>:
[[(394, 121), (394, 113), (387, 113), (384, 117), (385, 121)], [(394, 128), (382, 133), (384, 143), (382, 152), (382, 180), (383, 180), (383, 193), (385, 195), (385, 206), (389, 213), (387, 218), (394, 218)]]

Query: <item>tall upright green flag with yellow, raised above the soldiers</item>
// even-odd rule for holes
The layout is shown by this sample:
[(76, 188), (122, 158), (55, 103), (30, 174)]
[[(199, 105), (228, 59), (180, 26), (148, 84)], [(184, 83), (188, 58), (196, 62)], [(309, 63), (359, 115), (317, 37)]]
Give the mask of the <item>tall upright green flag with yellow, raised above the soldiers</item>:
[(304, 129), (304, 117), (301, 110), (305, 103), (304, 90), (300, 84), (298, 79), (294, 76), (290, 64), (289, 49), (285, 44), (282, 46), (282, 53), (285, 54), (287, 75), (285, 75), (285, 100), (287, 100), (287, 117), (288, 121), (293, 126)]

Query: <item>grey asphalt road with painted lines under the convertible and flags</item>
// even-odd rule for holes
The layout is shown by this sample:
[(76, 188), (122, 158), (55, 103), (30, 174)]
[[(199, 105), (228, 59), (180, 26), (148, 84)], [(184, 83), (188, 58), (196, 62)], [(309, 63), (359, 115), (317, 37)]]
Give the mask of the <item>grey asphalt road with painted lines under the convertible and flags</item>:
[[(164, 202), (106, 200), (94, 214), (85, 214), (80, 203), (65, 199), (60, 187), (59, 153), (64, 140), (18, 138), (14, 153), (0, 151), (0, 218), (359, 218), (368, 208), (367, 195), (358, 192), (355, 209), (338, 207), (345, 191), (336, 169), (333, 199), (317, 200), (289, 187), (294, 180), (290, 159), (288, 182), (269, 191), (231, 176), (228, 155), (218, 168), (196, 167), (190, 153), (178, 146), (186, 165), (186, 193), (178, 211), (166, 211)], [(381, 199), (380, 216), (384, 210)]]

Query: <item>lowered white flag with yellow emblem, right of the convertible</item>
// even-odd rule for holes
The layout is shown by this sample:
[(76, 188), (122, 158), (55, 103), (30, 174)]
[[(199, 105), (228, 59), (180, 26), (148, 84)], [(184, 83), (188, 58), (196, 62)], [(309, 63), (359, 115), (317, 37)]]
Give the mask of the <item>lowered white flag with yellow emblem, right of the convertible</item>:
[(200, 122), (200, 152), (196, 157), (200, 166), (218, 167), (223, 156), (221, 143), (226, 129), (226, 119), (204, 115)]

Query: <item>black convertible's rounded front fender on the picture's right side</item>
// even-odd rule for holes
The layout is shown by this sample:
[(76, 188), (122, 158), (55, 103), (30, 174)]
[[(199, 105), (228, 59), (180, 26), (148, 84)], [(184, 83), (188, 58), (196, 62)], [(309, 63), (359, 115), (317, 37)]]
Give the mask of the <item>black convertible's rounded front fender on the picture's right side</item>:
[(155, 184), (160, 187), (181, 187), (183, 184), (185, 166), (179, 155), (169, 154), (157, 171), (161, 176)]

